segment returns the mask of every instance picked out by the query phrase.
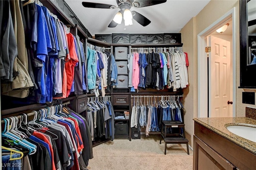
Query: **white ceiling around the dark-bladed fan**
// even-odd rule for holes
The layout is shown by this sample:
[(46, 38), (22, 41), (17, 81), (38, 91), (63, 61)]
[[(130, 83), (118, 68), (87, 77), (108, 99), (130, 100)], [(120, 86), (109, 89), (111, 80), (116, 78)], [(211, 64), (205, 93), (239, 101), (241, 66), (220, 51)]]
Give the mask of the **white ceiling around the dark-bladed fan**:
[[(132, 26), (118, 24), (116, 28), (108, 28), (108, 24), (113, 20), (117, 9), (85, 8), (82, 2), (97, 2), (102, 4), (112, 4), (117, 6), (116, 0), (65, 0), (82, 24), (88, 29), (90, 34), (157, 34), (157, 33), (178, 33), (186, 23), (196, 16), (208, 4), (210, 0), (167, 0), (163, 4), (147, 6), (142, 8), (132, 7), (148, 18), (151, 23), (148, 26), (141, 26), (133, 20)], [(126, 28), (126, 30), (124, 30)]]

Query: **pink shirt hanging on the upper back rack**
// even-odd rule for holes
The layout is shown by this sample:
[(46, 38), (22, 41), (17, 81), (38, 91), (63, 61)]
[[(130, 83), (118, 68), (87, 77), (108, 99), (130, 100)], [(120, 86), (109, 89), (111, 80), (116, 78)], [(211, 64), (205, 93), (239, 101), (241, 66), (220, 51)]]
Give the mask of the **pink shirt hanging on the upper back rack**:
[(133, 53), (133, 62), (132, 62), (132, 86), (134, 89), (138, 89), (138, 84), (140, 82), (140, 66), (138, 64), (139, 53)]

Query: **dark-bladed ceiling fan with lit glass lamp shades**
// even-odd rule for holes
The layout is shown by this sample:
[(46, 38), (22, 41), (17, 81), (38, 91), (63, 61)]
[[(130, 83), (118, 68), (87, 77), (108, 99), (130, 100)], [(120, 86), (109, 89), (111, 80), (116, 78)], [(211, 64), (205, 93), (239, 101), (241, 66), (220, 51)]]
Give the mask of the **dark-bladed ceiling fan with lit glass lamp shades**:
[(142, 26), (150, 24), (150, 20), (136, 11), (130, 11), (131, 7), (142, 8), (145, 6), (152, 6), (162, 4), (167, 0), (116, 0), (118, 6), (110, 4), (101, 4), (94, 2), (82, 2), (82, 5), (86, 8), (105, 8), (116, 9), (120, 8), (120, 11), (115, 15), (114, 19), (108, 25), (109, 28), (114, 28), (118, 24), (121, 24), (122, 18), (124, 18), (124, 24), (126, 26), (132, 25), (132, 18)]

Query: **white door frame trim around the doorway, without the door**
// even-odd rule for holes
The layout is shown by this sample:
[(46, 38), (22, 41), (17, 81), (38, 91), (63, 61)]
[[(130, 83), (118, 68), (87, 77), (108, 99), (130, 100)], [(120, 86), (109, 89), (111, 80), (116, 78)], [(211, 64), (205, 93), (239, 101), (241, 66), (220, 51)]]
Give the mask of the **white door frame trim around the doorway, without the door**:
[[(236, 7), (232, 8), (197, 36), (198, 39), (198, 117), (208, 117), (208, 64), (207, 36), (220, 25), (232, 19), (232, 45), (233, 45), (233, 117), (236, 116)], [(207, 86), (206, 86), (207, 85)]]

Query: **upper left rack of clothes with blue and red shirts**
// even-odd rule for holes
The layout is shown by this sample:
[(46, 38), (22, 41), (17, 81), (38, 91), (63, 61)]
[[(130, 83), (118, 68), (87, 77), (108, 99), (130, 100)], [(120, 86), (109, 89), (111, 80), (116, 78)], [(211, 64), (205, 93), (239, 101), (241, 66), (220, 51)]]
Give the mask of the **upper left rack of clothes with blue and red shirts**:
[[(9, 30), (2, 30), (11, 37), (10, 49), (1, 57), (2, 96), (17, 97), (24, 103), (48, 103), (72, 92), (82, 94), (86, 90), (85, 53), (72, 30), (38, 1), (24, 2), (24, 6), (18, 0), (0, 5), (10, 16), (3, 22), (11, 24)], [(14, 27), (19, 28), (17, 32)]]

